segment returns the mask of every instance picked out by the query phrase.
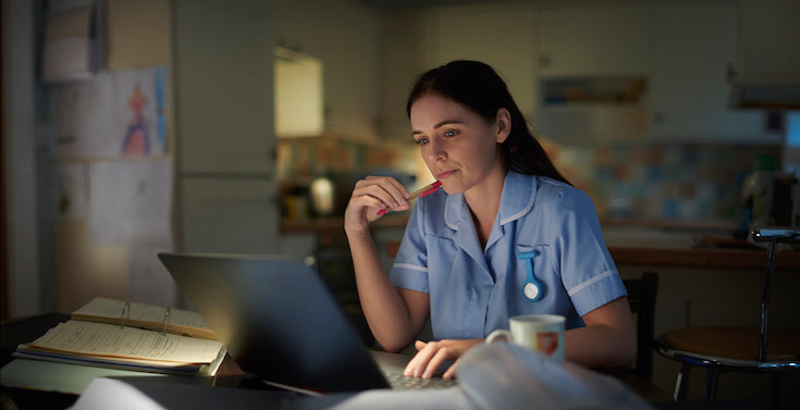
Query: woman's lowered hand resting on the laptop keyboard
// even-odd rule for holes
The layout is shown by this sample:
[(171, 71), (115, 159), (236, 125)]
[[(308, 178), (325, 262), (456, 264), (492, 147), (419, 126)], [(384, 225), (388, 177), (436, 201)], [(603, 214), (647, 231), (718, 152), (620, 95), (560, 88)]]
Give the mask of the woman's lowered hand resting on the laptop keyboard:
[(483, 343), (484, 339), (443, 339), (439, 341), (424, 343), (417, 340), (414, 347), (417, 348), (417, 355), (408, 362), (403, 375), (406, 377), (433, 377), (436, 369), (444, 364), (446, 360), (456, 360), (442, 375), (442, 378), (453, 378), (456, 373), (459, 358), (470, 347)]

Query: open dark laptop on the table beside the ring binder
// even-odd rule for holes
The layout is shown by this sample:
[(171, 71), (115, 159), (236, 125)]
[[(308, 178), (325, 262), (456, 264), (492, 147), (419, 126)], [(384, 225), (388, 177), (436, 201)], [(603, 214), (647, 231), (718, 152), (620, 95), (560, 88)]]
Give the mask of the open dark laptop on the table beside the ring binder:
[(268, 382), (316, 392), (453, 384), (441, 377), (403, 377), (408, 356), (368, 349), (312, 261), (169, 252), (158, 257), (239, 368)]

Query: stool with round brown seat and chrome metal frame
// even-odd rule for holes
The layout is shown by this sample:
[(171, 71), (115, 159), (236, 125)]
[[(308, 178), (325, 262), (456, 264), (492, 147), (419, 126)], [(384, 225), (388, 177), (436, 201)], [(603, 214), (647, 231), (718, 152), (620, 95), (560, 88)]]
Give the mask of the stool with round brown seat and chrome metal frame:
[[(764, 286), (761, 298), (761, 323), (755, 327), (684, 327), (661, 335), (656, 351), (680, 362), (675, 383), (675, 401), (686, 399), (691, 366), (706, 369), (703, 400), (716, 396), (717, 380), (725, 372), (761, 372), (775, 375), (774, 394), (779, 401), (777, 375), (800, 370), (800, 333), (768, 331), (770, 290), (778, 243), (800, 243), (800, 229), (760, 227), (751, 233), (758, 243), (768, 243)], [(768, 341), (768, 346), (767, 346)]]

